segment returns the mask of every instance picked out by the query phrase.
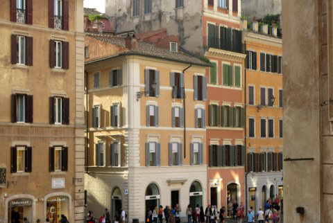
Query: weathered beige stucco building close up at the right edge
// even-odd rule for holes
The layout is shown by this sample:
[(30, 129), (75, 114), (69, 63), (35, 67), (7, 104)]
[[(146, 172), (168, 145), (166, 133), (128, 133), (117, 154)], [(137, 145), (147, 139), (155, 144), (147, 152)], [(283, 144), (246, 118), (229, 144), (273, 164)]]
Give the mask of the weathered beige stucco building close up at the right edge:
[(332, 1), (282, 1), (284, 221), (332, 222)]

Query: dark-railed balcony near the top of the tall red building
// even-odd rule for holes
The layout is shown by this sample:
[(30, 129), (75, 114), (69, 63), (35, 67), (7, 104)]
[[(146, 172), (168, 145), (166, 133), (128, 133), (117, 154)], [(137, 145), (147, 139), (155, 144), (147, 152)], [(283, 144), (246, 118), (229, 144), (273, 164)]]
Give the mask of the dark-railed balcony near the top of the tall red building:
[(204, 37), (203, 39), (204, 48), (219, 48), (225, 51), (232, 51), (235, 53), (243, 53), (243, 44), (241, 43), (241, 37), (234, 39), (221, 39), (216, 37)]

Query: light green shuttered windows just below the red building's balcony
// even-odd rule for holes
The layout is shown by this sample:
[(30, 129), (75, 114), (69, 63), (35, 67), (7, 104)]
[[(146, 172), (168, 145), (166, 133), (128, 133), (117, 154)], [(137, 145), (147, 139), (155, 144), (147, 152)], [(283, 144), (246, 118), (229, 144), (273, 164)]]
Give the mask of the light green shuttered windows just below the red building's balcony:
[[(223, 64), (222, 71), (223, 86), (241, 87), (241, 66), (234, 66), (232, 69), (231, 65)], [(212, 62), (212, 67), (210, 67), (210, 84), (218, 84), (217, 77), (217, 64), (216, 62)]]

